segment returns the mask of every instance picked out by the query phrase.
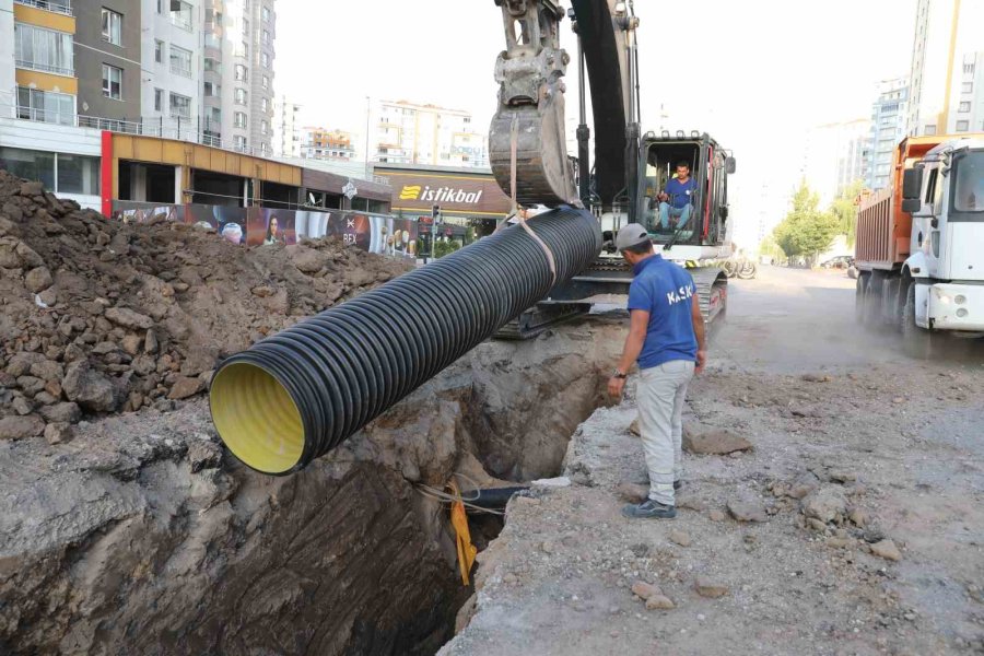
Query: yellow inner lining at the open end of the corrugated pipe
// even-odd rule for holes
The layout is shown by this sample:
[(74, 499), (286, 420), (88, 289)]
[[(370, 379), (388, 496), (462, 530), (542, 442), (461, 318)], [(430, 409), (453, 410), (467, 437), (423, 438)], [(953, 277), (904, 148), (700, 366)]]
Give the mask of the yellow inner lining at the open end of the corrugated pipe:
[(304, 423), (297, 405), (269, 372), (237, 362), (223, 367), (209, 394), (225, 446), (257, 471), (284, 473), (301, 460)]

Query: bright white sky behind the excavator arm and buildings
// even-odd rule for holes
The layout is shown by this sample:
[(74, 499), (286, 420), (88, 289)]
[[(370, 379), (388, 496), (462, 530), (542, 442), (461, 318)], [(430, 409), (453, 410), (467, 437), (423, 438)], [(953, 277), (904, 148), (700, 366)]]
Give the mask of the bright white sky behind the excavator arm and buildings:
[[(782, 212), (806, 131), (867, 117), (877, 83), (909, 74), (915, 4), (635, 0), (643, 130), (663, 106), (672, 129), (710, 132), (738, 159), (733, 215)], [(493, 0), (278, 0), (277, 22), (274, 92), (303, 106), (305, 124), (361, 140), (366, 96), (469, 110), (477, 126), (495, 110), (505, 42)], [(566, 20), (561, 34), (575, 52)], [(567, 89), (570, 113), (574, 66)], [(763, 184), (782, 198), (760, 198)]]

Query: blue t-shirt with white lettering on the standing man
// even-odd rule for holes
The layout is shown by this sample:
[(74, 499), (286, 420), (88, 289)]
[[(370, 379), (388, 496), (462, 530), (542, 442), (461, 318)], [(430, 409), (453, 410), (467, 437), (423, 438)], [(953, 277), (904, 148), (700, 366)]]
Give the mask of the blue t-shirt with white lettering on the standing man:
[(696, 362), (693, 278), (682, 267), (659, 255), (635, 265), (634, 273), (635, 279), (629, 288), (629, 309), (649, 313), (639, 368), (653, 368), (673, 360)]

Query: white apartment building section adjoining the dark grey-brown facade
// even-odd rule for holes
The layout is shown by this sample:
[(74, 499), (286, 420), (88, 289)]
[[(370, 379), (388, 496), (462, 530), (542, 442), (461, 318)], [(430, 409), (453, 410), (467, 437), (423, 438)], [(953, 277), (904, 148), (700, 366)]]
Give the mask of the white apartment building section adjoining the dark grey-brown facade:
[(141, 0), (143, 121), (165, 134), (209, 129), (202, 96), (214, 96), (215, 81), (202, 82), (201, 7), (185, 0)]

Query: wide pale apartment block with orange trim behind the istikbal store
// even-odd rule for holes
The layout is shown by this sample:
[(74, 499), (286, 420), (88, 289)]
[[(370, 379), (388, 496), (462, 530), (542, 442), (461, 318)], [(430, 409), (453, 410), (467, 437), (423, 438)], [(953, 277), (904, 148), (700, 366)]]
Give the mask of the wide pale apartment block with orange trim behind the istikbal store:
[(389, 164), (488, 167), (484, 132), (460, 109), (383, 101), (377, 110), (373, 159)]

